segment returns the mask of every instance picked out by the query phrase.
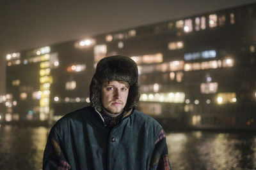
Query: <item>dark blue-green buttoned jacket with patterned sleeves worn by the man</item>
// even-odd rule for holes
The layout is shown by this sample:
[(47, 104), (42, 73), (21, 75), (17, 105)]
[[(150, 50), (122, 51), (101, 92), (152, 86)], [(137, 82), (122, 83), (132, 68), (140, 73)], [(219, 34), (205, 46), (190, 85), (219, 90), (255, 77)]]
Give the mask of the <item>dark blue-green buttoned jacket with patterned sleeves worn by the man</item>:
[(109, 128), (92, 107), (82, 108), (52, 127), (43, 169), (171, 169), (161, 131), (156, 120), (137, 110)]

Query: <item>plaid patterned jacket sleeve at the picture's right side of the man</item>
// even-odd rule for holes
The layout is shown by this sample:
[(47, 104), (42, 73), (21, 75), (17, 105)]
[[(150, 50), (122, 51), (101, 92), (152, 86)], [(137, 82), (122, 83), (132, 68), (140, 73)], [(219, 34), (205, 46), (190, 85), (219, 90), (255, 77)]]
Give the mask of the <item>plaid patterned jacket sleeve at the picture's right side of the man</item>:
[(168, 148), (166, 145), (166, 137), (163, 129), (161, 129), (155, 141), (150, 169), (172, 170), (170, 161), (168, 159)]

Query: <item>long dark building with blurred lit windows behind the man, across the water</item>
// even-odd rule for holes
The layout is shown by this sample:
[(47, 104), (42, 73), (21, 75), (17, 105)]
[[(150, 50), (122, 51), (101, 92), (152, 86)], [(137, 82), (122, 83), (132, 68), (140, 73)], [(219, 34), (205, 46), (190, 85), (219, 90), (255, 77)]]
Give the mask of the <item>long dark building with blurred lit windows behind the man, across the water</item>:
[(163, 124), (255, 128), (255, 8), (250, 4), (10, 53), (6, 121), (57, 120), (87, 106), (97, 62), (126, 55), (138, 64), (140, 110)]

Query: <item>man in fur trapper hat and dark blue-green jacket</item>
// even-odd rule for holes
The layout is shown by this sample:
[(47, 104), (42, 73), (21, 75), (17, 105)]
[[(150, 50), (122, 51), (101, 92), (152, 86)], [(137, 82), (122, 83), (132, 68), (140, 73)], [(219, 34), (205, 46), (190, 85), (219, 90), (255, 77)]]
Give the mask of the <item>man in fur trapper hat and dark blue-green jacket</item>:
[(136, 63), (120, 55), (100, 60), (91, 106), (52, 127), (43, 169), (171, 169), (163, 128), (134, 110), (139, 99)]

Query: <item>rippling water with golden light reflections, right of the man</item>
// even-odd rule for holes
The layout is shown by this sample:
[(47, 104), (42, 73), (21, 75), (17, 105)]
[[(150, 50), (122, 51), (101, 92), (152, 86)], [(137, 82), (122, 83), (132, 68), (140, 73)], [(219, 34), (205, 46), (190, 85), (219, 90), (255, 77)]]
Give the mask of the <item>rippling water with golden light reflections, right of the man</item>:
[(173, 169), (256, 169), (256, 134), (196, 131), (166, 139)]

